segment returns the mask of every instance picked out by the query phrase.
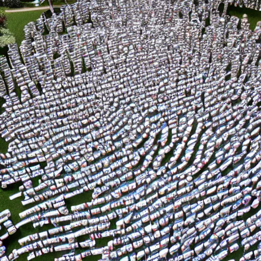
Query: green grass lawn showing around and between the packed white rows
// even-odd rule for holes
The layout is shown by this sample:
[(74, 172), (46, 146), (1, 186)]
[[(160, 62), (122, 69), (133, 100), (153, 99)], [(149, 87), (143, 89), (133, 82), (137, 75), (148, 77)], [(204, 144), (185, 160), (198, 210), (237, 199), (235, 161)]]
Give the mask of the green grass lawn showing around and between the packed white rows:
[[(47, 1), (44, 2), (44, 5), (46, 5), (46, 4), (47, 4)], [(60, 4), (60, 3), (56, 2), (55, 4)], [(30, 5), (32, 5), (32, 4), (27, 3), (27, 6), (30, 6)], [(30, 12), (7, 13), (8, 28), (10, 29), (10, 31), (12, 33), (14, 33), (14, 35), (16, 37), (16, 42), (18, 45), (21, 44), (21, 41), (24, 38), (24, 36), (23, 36), (24, 25), (28, 24), (31, 21), (36, 21), (36, 19), (38, 19), (40, 17), (42, 12), (43, 12), (42, 10), (34, 10), (34, 11), (30, 11)], [(260, 12), (251, 10), (251, 9), (247, 9), (247, 8), (230, 7), (229, 13), (230, 13), (230, 15), (235, 15), (235, 16), (238, 16), (239, 18), (242, 18), (243, 14), (246, 13), (248, 15), (248, 19), (251, 24), (250, 27), (252, 30), (254, 30), (256, 22), (261, 20)], [(5, 55), (6, 51), (7, 51), (7, 48), (2, 48), (2, 49), (0, 49), (0, 54)], [(4, 139), (0, 138), (0, 152), (6, 153), (7, 148), (8, 148), (8, 143), (5, 142)], [(37, 180), (35, 180), (35, 181), (37, 182)], [(23, 206), (21, 204), (19, 198), (15, 199), (13, 201), (9, 200), (9, 196), (18, 192), (18, 187), (20, 185), (21, 184), (16, 184), (16, 185), (8, 187), (8, 189), (0, 189), (0, 212), (4, 211), (5, 209), (8, 208), (12, 214), (11, 219), (15, 224), (20, 221), (19, 213), (24, 210), (27, 210), (28, 207), (30, 207), (30, 206)], [(68, 203), (68, 205), (75, 205), (75, 204), (86, 202), (90, 199), (91, 199), (91, 196), (89, 194), (84, 195), (84, 197), (83, 197), (83, 195), (79, 195), (79, 196), (73, 197), (73, 199), (71, 199), (70, 201), (68, 200), (68, 202), (66, 202), (66, 203)], [(254, 213), (251, 213), (251, 214), (253, 215)], [(247, 215), (249, 216), (249, 214), (247, 214)], [(246, 217), (244, 216), (244, 220), (245, 220), (245, 218)], [(7, 247), (7, 253), (10, 253), (12, 251), (12, 249), (19, 248), (19, 244), (17, 242), (17, 240), (19, 238), (28, 236), (29, 234), (32, 234), (32, 233), (44, 231), (50, 227), (53, 227), (53, 226), (45, 225), (42, 228), (38, 227), (38, 228), (34, 229), (32, 224), (28, 224), (26, 226), (21, 227), (19, 229), (19, 231), (17, 231), (13, 236), (9, 237), (7, 240), (4, 241), (4, 245)], [(2, 229), (2, 231), (0, 231), (0, 234), (3, 234), (3, 232), (4, 232), (4, 229)], [(106, 239), (104, 239), (104, 240), (106, 241)], [(101, 243), (102, 243), (102, 239), (97, 240), (97, 244), (102, 245)], [(77, 252), (78, 252), (78, 250), (77, 250)], [(59, 252), (58, 253), (49, 253), (47, 255), (39, 256), (39, 257), (35, 258), (34, 260), (36, 260), (36, 261), (53, 260), (54, 257), (61, 256), (62, 254), (63, 253), (59, 253)], [(242, 256), (242, 254), (243, 254), (243, 249), (240, 248), (238, 251), (233, 253), (233, 258), (236, 261), (239, 261), (239, 258)], [(85, 260), (86, 261), (95, 261), (99, 258), (100, 258), (100, 256), (90, 256), (90, 257), (86, 258)], [(229, 258), (227, 257), (224, 260), (229, 260), (229, 259), (231, 259), (231, 256), (229, 256)], [(27, 260), (27, 254), (23, 254), (18, 260), (21, 260), (21, 261)]]

